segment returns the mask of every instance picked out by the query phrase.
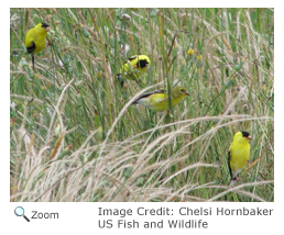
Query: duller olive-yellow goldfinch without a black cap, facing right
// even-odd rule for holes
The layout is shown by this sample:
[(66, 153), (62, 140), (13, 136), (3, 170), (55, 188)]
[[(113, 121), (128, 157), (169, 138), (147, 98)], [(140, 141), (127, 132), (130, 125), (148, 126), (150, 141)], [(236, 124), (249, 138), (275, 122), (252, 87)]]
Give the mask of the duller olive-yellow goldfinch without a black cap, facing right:
[[(173, 88), (171, 91), (172, 105), (175, 107), (186, 96), (189, 96), (188, 91), (184, 87)], [(164, 90), (155, 90), (139, 97), (132, 104), (142, 104), (148, 107), (152, 111), (165, 111), (168, 109), (168, 94)]]

